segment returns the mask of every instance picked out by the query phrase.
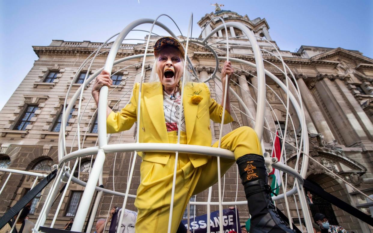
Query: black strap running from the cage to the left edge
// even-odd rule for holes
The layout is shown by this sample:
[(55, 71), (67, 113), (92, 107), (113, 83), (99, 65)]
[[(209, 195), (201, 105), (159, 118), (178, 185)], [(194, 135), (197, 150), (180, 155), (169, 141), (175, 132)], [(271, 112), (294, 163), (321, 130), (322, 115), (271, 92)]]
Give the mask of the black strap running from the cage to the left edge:
[(35, 198), (40, 191), (42, 191), (50, 182), (51, 180), (56, 177), (57, 169), (52, 171), (47, 177), (41, 180), (33, 189), (28, 191), (25, 196), (21, 198), (15, 205), (13, 205), (10, 210), (8, 210), (1, 218), (0, 218), (0, 229), (5, 226), (16, 214), (19, 213), (32, 199)]

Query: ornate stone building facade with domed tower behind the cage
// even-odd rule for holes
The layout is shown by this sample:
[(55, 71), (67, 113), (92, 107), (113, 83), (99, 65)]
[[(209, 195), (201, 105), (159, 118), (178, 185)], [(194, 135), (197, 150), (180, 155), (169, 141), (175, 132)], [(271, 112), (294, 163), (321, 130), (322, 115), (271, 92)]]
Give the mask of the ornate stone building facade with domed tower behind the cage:
[[(206, 14), (198, 22), (198, 25), (204, 30), (201, 32), (201, 38), (206, 37), (214, 28), (222, 24), (218, 18), (220, 16), (225, 22), (241, 22), (253, 30), (259, 39), (258, 43), (262, 51), (265, 68), (272, 72), (278, 78), (284, 78), (282, 72), (271, 66), (270, 63), (281, 66), (279, 60), (273, 56), (276, 50), (272, 44), (279, 50), (284, 62), (295, 75), (302, 100), (310, 138), (310, 155), (319, 161), (328, 170), (339, 174), (345, 180), (358, 187), (367, 195), (373, 194), (373, 59), (363, 56), (359, 51), (346, 50), (344, 48), (325, 48), (302, 45), (300, 49), (293, 53), (280, 50), (278, 45), (269, 34), (269, 25), (265, 19), (249, 19), (247, 15), (241, 16), (235, 12), (219, 10), (215, 13)], [(211, 22), (210, 22), (211, 21)], [(228, 36), (233, 37), (229, 40), (230, 57), (254, 62), (253, 51), (250, 42), (243, 36), (239, 29), (229, 27)], [(219, 56), (225, 56), (225, 30), (216, 32), (214, 37), (208, 41)], [(151, 40), (155, 41), (156, 36)], [(83, 41), (71, 42), (62, 40), (53, 40), (47, 46), (33, 46), (38, 60), (18, 86), (12, 97), (0, 111), (0, 167), (9, 169), (37, 171), (48, 173), (53, 164), (58, 163), (57, 142), (59, 129), (62, 125), (60, 114), (63, 110), (63, 104), (66, 100), (66, 93), (74, 77), (76, 81), (71, 84), (71, 92), (67, 97), (68, 101), (72, 94), (82, 85), (84, 77), (89, 69), (87, 64), (80, 72), (79, 66), (93, 53), (102, 43)], [(117, 53), (117, 59), (144, 53), (144, 44), (122, 44)], [(90, 74), (104, 66), (110, 44), (105, 45), (91, 67)], [(151, 48), (150, 51), (151, 52)], [(188, 55), (197, 71), (198, 78), (206, 80), (214, 71), (215, 60), (213, 54), (206, 48), (189, 44)], [(150, 74), (153, 61), (147, 60), (148, 69), (146, 75)], [(108, 104), (114, 110), (120, 110), (129, 101), (131, 88), (135, 82), (140, 81), (141, 59), (133, 59), (119, 63), (113, 67), (112, 73), (115, 85), (109, 88)], [(135, 64), (134, 66), (131, 66)], [(232, 62), (236, 67), (236, 75), (231, 83), (236, 93), (244, 101), (245, 105), (255, 117), (256, 111), (256, 89), (257, 79), (254, 77), (256, 70), (249, 66)], [(88, 74), (89, 75), (89, 74)], [(217, 73), (219, 76), (219, 73)], [(284, 79), (283, 79), (284, 80)], [(194, 79), (197, 81), (197, 79)], [(252, 84), (253, 86), (249, 85)], [(269, 77), (266, 77), (267, 100), (272, 109), (266, 107), (266, 119), (270, 129), (283, 129), (285, 122), (286, 109), (281, 100), (286, 101), (285, 92), (279, 88)], [(285, 82), (285, 81), (284, 81)], [(217, 79), (211, 79), (209, 86), (213, 98), (221, 95), (221, 83)], [(92, 147), (97, 140), (97, 122), (96, 106), (91, 99), (92, 83), (84, 89), (82, 95), (82, 108), (79, 130), (80, 141), (78, 141), (76, 130), (78, 129), (78, 102), (75, 103), (73, 110), (69, 113), (69, 120), (66, 122), (66, 147), (67, 152), (78, 149), (78, 142), (81, 146)], [(272, 91), (273, 90), (273, 91)], [(293, 93), (294, 88), (291, 88)], [(253, 98), (251, 98), (252, 96)], [(281, 99), (281, 100), (280, 100)], [(244, 111), (239, 105), (238, 100), (231, 95), (231, 104), (234, 109)], [(299, 120), (293, 108), (290, 109), (294, 118), (294, 127), (289, 126), (289, 136), (286, 141), (295, 145), (294, 135), (299, 132)], [(275, 122), (275, 116), (280, 124)], [(224, 131), (241, 125), (253, 126), (254, 120), (239, 111), (233, 116), (235, 121), (229, 126), (224, 127)], [(219, 137), (219, 125), (212, 123), (211, 136), (213, 141)], [(225, 133), (225, 132), (224, 132)], [(124, 133), (112, 135), (109, 144), (134, 142), (136, 134), (135, 126)], [(271, 135), (264, 130), (264, 145), (267, 151), (272, 149)], [(286, 145), (287, 164), (295, 167), (296, 151), (290, 145)], [(134, 177), (130, 194), (136, 194), (136, 189), (140, 181), (140, 157), (135, 158)], [(103, 168), (103, 183), (107, 189), (115, 189), (118, 192), (125, 192), (126, 182), (129, 173), (129, 167), (133, 160), (131, 153), (107, 154)], [(74, 162), (74, 161), (73, 161)], [(79, 178), (87, 181), (91, 164), (94, 163), (94, 157), (84, 157), (80, 161)], [(298, 161), (301, 163), (301, 161)], [(70, 164), (72, 167), (72, 164)], [(298, 166), (300, 167), (300, 166)], [(0, 185), (4, 183), (9, 173), (0, 173)], [(4, 200), (0, 207), (0, 214), (4, 214), (12, 207), (30, 188), (34, 182), (34, 177), (12, 174), (0, 199)], [(236, 198), (236, 167), (233, 166), (226, 173), (225, 196), (224, 201), (234, 201)], [(364, 208), (367, 202), (358, 192), (342, 183), (338, 178), (330, 175), (327, 170), (320, 167), (312, 160), (309, 161), (307, 170), (307, 179), (321, 186), (325, 191), (332, 193), (343, 201), (361, 208), (362, 211), (370, 214), (368, 208)], [(287, 186), (291, 188), (294, 183), (292, 177), (287, 177)], [(45, 202), (48, 193), (48, 187), (43, 190), (37, 199), (33, 201), (33, 214), (30, 214), (31, 220), (36, 220), (41, 207)], [(63, 205), (57, 218), (55, 227), (63, 228), (70, 217), (75, 215), (76, 206), (81, 197), (84, 187), (72, 183), (69, 186), (66, 196), (63, 197)], [(306, 191), (308, 192), (308, 191)], [(207, 191), (197, 195), (197, 201), (207, 200)], [(307, 193), (312, 214), (319, 210), (329, 210), (334, 216), (335, 223), (341, 224), (349, 232), (368, 232), (367, 224), (362, 223), (355, 217), (344, 211), (331, 206), (330, 204), (319, 201), (317, 195), (312, 192)], [(59, 201), (59, 197), (56, 203)], [(217, 201), (217, 185), (213, 186), (212, 201)], [(238, 200), (244, 200), (244, 193), (241, 187), (238, 188)], [(293, 216), (296, 216), (296, 206), (294, 197), (290, 197), (290, 209)], [(122, 197), (104, 194), (101, 200), (97, 219), (106, 217), (111, 206), (121, 206)], [(314, 202), (314, 203), (311, 203)], [(317, 202), (317, 203), (316, 203)], [(318, 203), (320, 202), (320, 203)], [(135, 210), (134, 200), (129, 199), (127, 208)], [(278, 203), (280, 206), (281, 202)], [(46, 224), (50, 223), (56, 214), (56, 206), (47, 218)], [(191, 207), (193, 208), (193, 207)], [(319, 209), (317, 209), (319, 208)], [(248, 216), (246, 206), (239, 206), (240, 220), (244, 223)], [(212, 207), (212, 211), (217, 210)], [(206, 213), (205, 206), (196, 207), (197, 215)], [(297, 219), (293, 219), (296, 221)]]

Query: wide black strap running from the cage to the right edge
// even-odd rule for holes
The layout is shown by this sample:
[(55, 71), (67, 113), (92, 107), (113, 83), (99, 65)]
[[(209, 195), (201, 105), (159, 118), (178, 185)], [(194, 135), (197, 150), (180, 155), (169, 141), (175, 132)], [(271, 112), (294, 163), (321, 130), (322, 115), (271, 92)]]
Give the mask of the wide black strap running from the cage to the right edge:
[(330, 202), (330, 204), (335, 205), (336, 207), (340, 208), (341, 210), (344, 210), (351, 214), (354, 217), (357, 217), (361, 221), (369, 224), (370, 226), (373, 226), (373, 218), (370, 217), (367, 214), (364, 214), (357, 208), (353, 207), (352, 205), (347, 204), (346, 202), (342, 201), (339, 198), (336, 198), (335, 196), (331, 195), (330, 193), (324, 191), (324, 189), (320, 188), (317, 185), (314, 185), (313, 183), (309, 182), (308, 180), (304, 180), (304, 188), (309, 189), (311, 192), (316, 193), (318, 196), (323, 198), (325, 201)]

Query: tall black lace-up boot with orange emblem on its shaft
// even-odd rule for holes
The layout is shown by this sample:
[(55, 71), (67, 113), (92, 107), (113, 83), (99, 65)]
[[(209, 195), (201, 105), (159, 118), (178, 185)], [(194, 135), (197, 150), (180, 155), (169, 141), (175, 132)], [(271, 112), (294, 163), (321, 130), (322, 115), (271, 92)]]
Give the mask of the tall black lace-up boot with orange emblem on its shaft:
[(251, 214), (250, 233), (295, 232), (283, 221), (271, 198), (264, 158), (247, 154), (236, 161)]

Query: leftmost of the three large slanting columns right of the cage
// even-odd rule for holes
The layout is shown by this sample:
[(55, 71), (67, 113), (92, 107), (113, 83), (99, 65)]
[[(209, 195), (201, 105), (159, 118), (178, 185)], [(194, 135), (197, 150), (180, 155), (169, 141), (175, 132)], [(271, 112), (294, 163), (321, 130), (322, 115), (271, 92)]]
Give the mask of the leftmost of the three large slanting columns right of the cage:
[[(310, 90), (308, 89), (307, 85), (304, 83), (304, 78), (307, 78), (305, 75), (297, 75), (297, 83), (301, 92), (301, 96), (303, 99), (304, 107), (307, 108), (308, 112), (310, 113), (310, 117), (316, 125), (316, 129), (320, 132), (326, 142), (333, 142), (335, 140), (332, 130), (330, 130), (328, 123), (326, 122), (322, 112), (320, 111), (320, 107), (317, 105), (316, 101), (313, 98)], [(307, 112), (307, 111), (305, 111)], [(306, 118), (307, 120), (307, 118)], [(307, 127), (308, 127), (307, 123)], [(311, 126), (312, 127), (312, 126)], [(314, 127), (314, 126), (313, 126)], [(311, 131), (310, 131), (311, 133)], [(317, 132), (316, 132), (317, 133)]]

